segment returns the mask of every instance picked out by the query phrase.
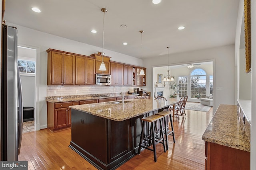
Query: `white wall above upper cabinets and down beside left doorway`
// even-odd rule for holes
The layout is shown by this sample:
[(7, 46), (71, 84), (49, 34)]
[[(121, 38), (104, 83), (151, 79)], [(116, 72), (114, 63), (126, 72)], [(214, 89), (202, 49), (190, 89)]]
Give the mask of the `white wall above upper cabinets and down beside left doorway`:
[[(36, 57), (36, 78), (40, 77), (40, 79), (36, 81), (36, 94), (38, 94), (38, 96), (36, 96), (36, 102), (38, 104), (37, 106), (39, 107), (37, 109), (39, 113), (36, 114), (38, 115), (37, 117), (40, 119), (40, 129), (47, 128), (47, 106), (45, 101), (45, 97), (47, 96), (46, 50), (51, 48), (90, 56), (91, 54), (97, 53), (97, 51), (101, 51), (102, 48), (36, 31), (34, 29), (16, 25), (14, 23), (7, 23), (7, 25), (15, 26), (18, 28), (18, 45), (24, 47), (34, 47), (38, 49), (38, 54)], [(111, 61), (118, 61), (138, 66), (140, 66), (141, 64), (141, 59), (135, 57), (123, 55), (114, 51), (109, 51), (107, 49), (104, 49), (104, 52), (106, 56), (112, 57), (110, 59)], [(95, 88), (98, 88), (98, 90), (101, 90), (100, 87), (101, 86), (95, 85)], [(120, 87), (117, 88), (119, 88), (118, 90), (120, 90)], [(144, 88), (144, 90), (146, 89)]]

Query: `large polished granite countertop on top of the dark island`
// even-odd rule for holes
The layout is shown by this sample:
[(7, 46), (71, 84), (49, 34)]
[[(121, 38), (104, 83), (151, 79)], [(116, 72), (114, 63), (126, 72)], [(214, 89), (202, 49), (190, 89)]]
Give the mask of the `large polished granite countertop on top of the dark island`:
[[(168, 101), (158, 101), (150, 99), (128, 99), (125, 103), (119, 101), (102, 102), (96, 104), (83, 104), (69, 106), (72, 109), (103, 117), (114, 121), (124, 121), (132, 117), (143, 115), (164, 107), (168, 107), (178, 102), (176, 98)], [(118, 104), (114, 104), (118, 103)]]

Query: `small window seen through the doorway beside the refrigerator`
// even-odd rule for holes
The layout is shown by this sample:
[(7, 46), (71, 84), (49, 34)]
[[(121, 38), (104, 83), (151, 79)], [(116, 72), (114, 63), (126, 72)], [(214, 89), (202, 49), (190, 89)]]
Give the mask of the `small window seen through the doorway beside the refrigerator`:
[(20, 70), (20, 73), (35, 74), (35, 65), (35, 61), (18, 59), (18, 68)]

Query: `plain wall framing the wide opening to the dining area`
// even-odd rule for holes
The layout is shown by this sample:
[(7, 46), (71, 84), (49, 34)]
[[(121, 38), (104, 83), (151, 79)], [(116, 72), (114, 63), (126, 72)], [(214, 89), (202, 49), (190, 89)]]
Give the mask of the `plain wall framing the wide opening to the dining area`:
[[(214, 75), (214, 99), (213, 111), (215, 112), (220, 104), (235, 104), (235, 58), (234, 45), (190, 51), (186, 53), (169, 54), (170, 65), (187, 63), (200, 63), (213, 61)], [(152, 67), (166, 65), (166, 57), (154, 57), (143, 60), (147, 68), (147, 89), (152, 89)], [(216, 90), (216, 87), (222, 90)]]

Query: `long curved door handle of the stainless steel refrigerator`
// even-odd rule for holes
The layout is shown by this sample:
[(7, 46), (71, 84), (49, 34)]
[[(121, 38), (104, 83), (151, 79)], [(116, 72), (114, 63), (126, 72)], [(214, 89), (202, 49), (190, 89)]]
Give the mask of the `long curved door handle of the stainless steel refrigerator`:
[(17, 72), (18, 72), (18, 102), (19, 102), (19, 114), (18, 114), (18, 155), (19, 155), (21, 139), (22, 139), (22, 128), (23, 128), (23, 101), (22, 101), (22, 87), (21, 87), (19, 68)]

